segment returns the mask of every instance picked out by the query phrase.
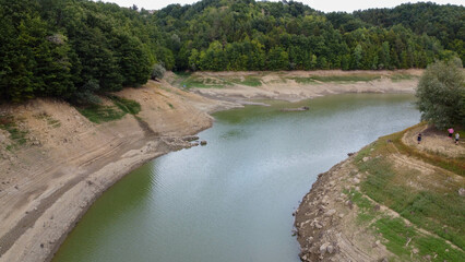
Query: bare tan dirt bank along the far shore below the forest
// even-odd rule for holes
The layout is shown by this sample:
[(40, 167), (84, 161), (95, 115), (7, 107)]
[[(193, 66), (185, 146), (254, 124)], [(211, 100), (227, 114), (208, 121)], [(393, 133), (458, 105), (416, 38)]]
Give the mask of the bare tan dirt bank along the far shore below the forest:
[[(192, 92), (216, 99), (297, 102), (342, 93), (414, 93), (421, 73), (422, 70), (195, 72), (190, 80), (194, 81)], [(174, 75), (170, 79), (176, 83)], [(196, 87), (195, 83), (203, 87)]]

